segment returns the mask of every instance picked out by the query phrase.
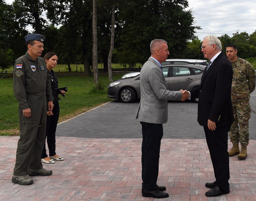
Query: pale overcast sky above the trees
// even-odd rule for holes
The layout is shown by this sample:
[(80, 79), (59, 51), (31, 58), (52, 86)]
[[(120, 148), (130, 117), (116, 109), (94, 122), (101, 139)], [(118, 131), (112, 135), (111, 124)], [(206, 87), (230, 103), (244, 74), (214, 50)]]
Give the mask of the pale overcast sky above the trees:
[[(13, 0), (6, 0), (11, 4)], [(224, 34), (246, 32), (249, 35), (256, 30), (255, 0), (188, 0), (188, 9), (192, 9), (196, 35), (202, 41), (206, 35), (221, 36)], [(203, 32), (203, 33), (202, 33)]]

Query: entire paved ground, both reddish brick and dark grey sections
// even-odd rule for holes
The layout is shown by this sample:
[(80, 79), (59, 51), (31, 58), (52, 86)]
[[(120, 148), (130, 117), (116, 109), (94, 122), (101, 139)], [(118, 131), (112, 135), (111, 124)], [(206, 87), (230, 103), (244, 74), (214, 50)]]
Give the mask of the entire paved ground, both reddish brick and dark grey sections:
[[(53, 174), (32, 177), (34, 183), (29, 186), (11, 182), (19, 137), (0, 136), (0, 200), (154, 200), (141, 195), (137, 106), (138, 102), (113, 101), (59, 124), (56, 152), (65, 160), (43, 164)], [(256, 200), (255, 113), (250, 120), (248, 157), (229, 158), (230, 193), (208, 198), (204, 184), (213, 182), (214, 174), (202, 128), (196, 123), (196, 106), (191, 102), (168, 106), (158, 182), (166, 186), (170, 197), (161, 200)]]

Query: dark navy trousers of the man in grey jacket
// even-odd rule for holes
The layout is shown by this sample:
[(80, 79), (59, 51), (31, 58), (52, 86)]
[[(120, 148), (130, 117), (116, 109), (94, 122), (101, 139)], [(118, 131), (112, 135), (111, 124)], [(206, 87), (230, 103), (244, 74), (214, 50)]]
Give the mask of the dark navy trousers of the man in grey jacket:
[(140, 121), (140, 124), (142, 126), (142, 188), (152, 191), (156, 190), (163, 124), (152, 124), (142, 121)]

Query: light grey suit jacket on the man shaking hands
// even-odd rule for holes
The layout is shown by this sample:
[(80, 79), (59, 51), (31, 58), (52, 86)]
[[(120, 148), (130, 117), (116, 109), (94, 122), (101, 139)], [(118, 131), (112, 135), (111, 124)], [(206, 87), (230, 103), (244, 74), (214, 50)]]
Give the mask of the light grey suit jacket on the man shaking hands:
[(160, 66), (149, 57), (140, 71), (140, 105), (137, 117), (140, 121), (163, 124), (168, 119), (167, 100), (180, 100), (180, 91), (166, 89), (166, 81)]

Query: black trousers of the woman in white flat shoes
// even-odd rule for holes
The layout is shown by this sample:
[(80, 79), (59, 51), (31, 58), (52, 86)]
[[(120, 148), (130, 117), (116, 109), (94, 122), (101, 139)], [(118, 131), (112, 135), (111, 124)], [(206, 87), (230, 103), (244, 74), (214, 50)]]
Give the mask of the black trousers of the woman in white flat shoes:
[[(56, 139), (55, 139), (55, 133), (56, 133), (56, 128), (60, 116), (60, 106), (59, 106), (59, 101), (53, 101), (54, 107), (52, 109), (52, 116), (47, 115), (47, 120), (46, 120), (46, 136), (45, 138), (47, 139), (47, 145), (49, 149), (49, 156), (54, 156), (56, 154), (55, 149), (56, 149)], [(46, 153), (46, 148), (45, 148), (45, 140), (44, 140), (44, 148), (42, 151), (42, 156), (41, 158), (46, 158), (47, 153)]]

